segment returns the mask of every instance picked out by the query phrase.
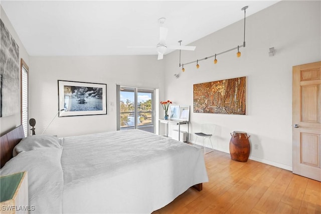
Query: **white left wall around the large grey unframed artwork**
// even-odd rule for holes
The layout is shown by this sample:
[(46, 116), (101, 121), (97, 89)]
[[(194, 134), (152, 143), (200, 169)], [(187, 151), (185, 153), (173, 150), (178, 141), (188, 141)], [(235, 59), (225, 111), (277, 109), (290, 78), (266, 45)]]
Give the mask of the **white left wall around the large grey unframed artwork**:
[[(24, 59), (26, 64), (29, 66), (29, 55), (28, 55), (24, 45), (20, 41), (19, 36), (17, 35), (15, 29), (13, 28), (13, 26), (12, 26), (10, 20), (8, 19), (4, 9), (1, 7), (0, 10), (1, 10), (0, 11), (1, 20), (4, 22), (6, 28), (8, 29), (8, 31), (11, 34), (11, 36), (15, 39), (16, 43), (19, 46), (19, 61), (22, 58), (22, 59)], [(19, 64), (19, 68), (20, 68), (20, 66), (21, 65)], [(20, 92), (19, 92), (19, 94), (20, 94)], [(10, 116), (6, 116), (6, 117), (0, 118), (0, 131), (1, 131), (1, 134), (6, 133), (8, 130), (14, 129), (19, 125), (21, 125), (21, 112), (20, 111), (15, 113), (14, 115), (10, 115)]]

